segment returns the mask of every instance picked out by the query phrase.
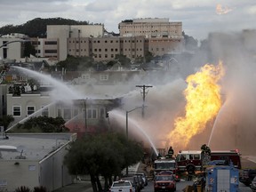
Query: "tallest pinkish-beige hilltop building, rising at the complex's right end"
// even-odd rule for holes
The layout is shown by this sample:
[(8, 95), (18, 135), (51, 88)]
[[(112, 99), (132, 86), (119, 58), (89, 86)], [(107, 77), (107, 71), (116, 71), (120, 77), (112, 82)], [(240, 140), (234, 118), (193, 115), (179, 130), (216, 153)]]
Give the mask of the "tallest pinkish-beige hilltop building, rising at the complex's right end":
[(148, 51), (162, 56), (180, 53), (183, 50), (182, 22), (169, 22), (169, 19), (134, 19), (119, 23), (120, 36), (145, 36)]

